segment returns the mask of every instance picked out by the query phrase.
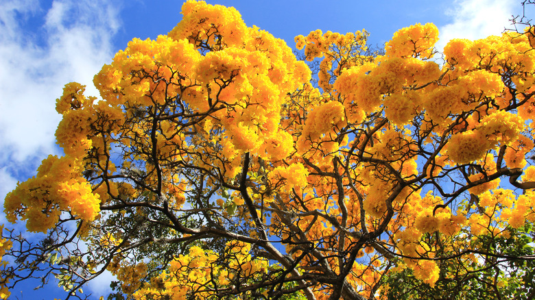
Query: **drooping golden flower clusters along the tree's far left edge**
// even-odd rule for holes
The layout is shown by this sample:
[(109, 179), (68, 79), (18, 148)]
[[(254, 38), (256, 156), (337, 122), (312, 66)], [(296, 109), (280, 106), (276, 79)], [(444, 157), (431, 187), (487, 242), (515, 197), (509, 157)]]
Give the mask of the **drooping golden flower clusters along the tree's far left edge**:
[[(93, 221), (100, 211), (99, 193), (93, 192), (93, 186), (82, 177), (88, 151), (98, 149), (102, 156), (107, 151), (102, 135), (92, 132), (91, 125), (101, 116), (111, 132), (124, 117), (120, 110), (102, 101), (95, 105), (95, 97), (85, 97), (84, 90), (85, 86), (78, 83), (67, 84), (56, 101), (56, 110), (63, 116), (56, 140), (66, 155), (49, 155), (41, 162), (38, 174), (18, 184), (4, 201), (8, 221), (21, 219), (30, 232), (46, 232), (65, 211), (84, 221)], [(110, 173), (115, 171), (111, 162), (101, 167)]]

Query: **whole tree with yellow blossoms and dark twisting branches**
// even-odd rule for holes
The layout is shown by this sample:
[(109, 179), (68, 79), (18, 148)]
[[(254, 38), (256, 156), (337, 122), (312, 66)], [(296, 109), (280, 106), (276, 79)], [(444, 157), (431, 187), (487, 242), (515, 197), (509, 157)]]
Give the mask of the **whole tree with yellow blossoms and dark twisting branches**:
[[(416, 24), (283, 40), (188, 1), (56, 104), (64, 156), (5, 199), (3, 298), (531, 299), (535, 27), (452, 40)], [(320, 60), (322, 59), (322, 60)], [(314, 64), (314, 62), (318, 64)], [(517, 287), (523, 286), (522, 289)]]

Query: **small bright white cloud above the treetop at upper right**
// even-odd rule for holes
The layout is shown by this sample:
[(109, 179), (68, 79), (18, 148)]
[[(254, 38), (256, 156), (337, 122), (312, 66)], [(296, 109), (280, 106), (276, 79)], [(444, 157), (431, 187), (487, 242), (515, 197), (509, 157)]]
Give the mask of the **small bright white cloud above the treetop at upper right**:
[(436, 47), (442, 51), (452, 38), (475, 40), (499, 35), (511, 27), (510, 19), (520, 9), (516, 0), (455, 0), (451, 10), (445, 12), (452, 21), (439, 28)]

